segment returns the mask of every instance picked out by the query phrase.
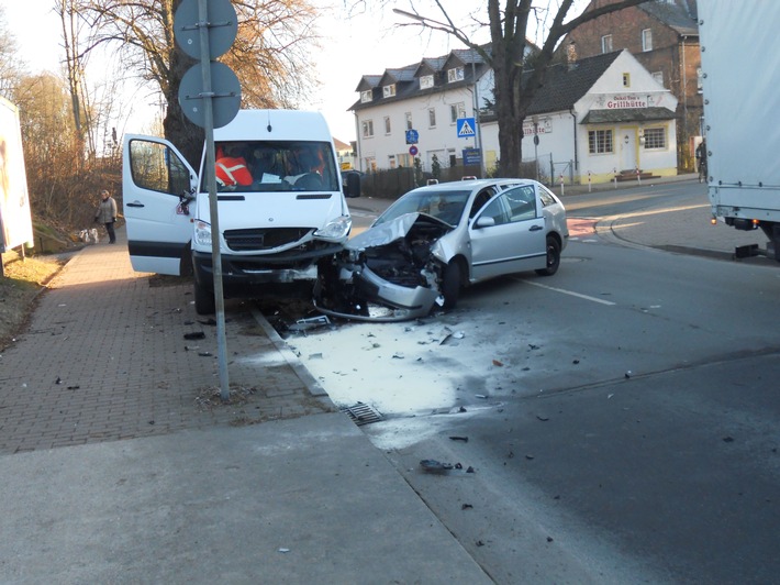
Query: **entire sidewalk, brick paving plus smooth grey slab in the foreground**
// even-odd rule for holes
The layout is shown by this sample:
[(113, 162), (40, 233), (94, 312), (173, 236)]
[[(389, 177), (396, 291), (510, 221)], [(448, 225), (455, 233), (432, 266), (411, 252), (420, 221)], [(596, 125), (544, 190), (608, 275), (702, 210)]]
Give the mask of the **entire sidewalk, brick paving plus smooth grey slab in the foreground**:
[(118, 236), (0, 356), (0, 582), (490, 583), (248, 303), (222, 405), (191, 285)]

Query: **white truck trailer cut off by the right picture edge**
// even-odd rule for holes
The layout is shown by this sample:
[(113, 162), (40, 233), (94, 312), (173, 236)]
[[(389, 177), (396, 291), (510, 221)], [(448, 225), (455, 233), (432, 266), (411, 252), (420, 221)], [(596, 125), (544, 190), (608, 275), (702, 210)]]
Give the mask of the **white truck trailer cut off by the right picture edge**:
[(712, 213), (769, 239), (766, 251), (737, 249), (738, 256), (780, 261), (780, 2), (698, 7)]

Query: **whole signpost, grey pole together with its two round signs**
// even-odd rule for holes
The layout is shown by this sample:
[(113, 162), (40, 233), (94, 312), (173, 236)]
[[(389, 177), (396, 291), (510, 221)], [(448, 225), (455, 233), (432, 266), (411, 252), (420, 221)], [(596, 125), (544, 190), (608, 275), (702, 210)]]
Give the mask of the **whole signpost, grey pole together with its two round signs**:
[(185, 115), (205, 130), (205, 181), (211, 214), (211, 254), (214, 264), (214, 303), (220, 364), (220, 397), (230, 399), (227, 349), (225, 344), (225, 300), (220, 255), (220, 218), (214, 175), (214, 128), (227, 124), (241, 107), (241, 85), (230, 67), (212, 62), (233, 44), (238, 30), (230, 0), (182, 0), (174, 16), (174, 35), (181, 49), (200, 60), (185, 74), (179, 87), (179, 104)]

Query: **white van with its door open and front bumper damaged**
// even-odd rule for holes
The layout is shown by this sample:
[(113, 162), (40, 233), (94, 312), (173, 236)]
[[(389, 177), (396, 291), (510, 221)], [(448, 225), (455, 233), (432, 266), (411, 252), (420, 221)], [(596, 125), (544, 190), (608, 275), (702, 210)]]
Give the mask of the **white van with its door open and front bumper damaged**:
[[(359, 180), (342, 188), (323, 115), (242, 110), (214, 130), (214, 147), (225, 296), (311, 291), (317, 261), (349, 236), (345, 196), (360, 195)], [(133, 269), (194, 274), (196, 310), (213, 312), (205, 153), (196, 175), (168, 141), (129, 134), (122, 163)]]

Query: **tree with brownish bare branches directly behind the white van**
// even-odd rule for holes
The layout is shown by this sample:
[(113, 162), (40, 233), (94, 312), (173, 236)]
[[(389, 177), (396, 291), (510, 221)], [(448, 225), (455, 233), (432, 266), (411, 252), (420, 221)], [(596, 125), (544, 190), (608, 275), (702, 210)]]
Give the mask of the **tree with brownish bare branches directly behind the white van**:
[[(200, 159), (202, 131), (178, 102), (181, 78), (193, 65), (176, 44), (174, 16), (181, 0), (73, 0), (89, 20), (92, 40), (116, 47), (127, 75), (159, 89), (167, 104), (165, 135), (191, 163)], [(307, 48), (316, 15), (308, 0), (233, 0), (238, 35), (222, 58), (242, 82), (245, 107), (293, 106), (307, 91)]]

